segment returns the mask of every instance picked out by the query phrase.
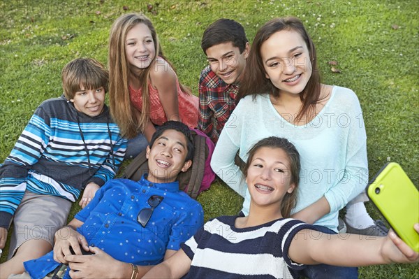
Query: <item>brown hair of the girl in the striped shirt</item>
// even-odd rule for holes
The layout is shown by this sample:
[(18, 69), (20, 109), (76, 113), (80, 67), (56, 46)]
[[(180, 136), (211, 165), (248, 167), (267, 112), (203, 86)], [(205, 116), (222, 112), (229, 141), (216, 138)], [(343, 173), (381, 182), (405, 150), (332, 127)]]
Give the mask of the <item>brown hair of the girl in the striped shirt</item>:
[(263, 138), (262, 140), (255, 143), (252, 148), (247, 152), (247, 162), (244, 165), (243, 174), (247, 177), (247, 171), (249, 170), (249, 166), (251, 165), (251, 161), (253, 160), (254, 155), (260, 148), (279, 148), (286, 152), (288, 157), (288, 161), (290, 163), (290, 171), (291, 173), (291, 183), (294, 184), (293, 192), (288, 193), (286, 192), (284, 199), (281, 201), (281, 215), (284, 218), (288, 218), (291, 216), (291, 210), (295, 207), (297, 203), (297, 189), (298, 183), (300, 183), (300, 153), (298, 153), (297, 148), (288, 141), (286, 138), (279, 138), (277, 136), (270, 136), (268, 138)]

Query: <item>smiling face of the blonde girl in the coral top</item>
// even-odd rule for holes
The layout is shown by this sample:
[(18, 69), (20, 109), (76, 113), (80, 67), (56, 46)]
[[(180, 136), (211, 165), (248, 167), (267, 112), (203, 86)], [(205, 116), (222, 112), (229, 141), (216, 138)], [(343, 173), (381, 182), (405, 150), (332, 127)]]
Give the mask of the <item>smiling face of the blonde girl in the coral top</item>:
[(125, 55), (129, 64), (145, 69), (156, 56), (152, 31), (144, 23), (136, 24), (126, 33)]

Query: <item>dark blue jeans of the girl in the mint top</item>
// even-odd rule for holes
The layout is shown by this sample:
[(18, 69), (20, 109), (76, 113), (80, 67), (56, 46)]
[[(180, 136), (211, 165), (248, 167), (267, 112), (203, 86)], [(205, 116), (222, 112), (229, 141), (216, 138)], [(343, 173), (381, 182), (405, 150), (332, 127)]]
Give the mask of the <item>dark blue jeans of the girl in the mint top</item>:
[[(328, 229), (323, 226), (316, 226), (318, 231), (325, 234), (336, 234), (335, 231)], [(344, 253), (345, 251), (341, 251)], [(301, 276), (305, 276), (309, 279), (357, 279), (358, 268), (357, 267), (346, 267), (346, 266), (330, 266), (329, 264), (315, 264), (308, 265), (305, 269), (300, 271)]]

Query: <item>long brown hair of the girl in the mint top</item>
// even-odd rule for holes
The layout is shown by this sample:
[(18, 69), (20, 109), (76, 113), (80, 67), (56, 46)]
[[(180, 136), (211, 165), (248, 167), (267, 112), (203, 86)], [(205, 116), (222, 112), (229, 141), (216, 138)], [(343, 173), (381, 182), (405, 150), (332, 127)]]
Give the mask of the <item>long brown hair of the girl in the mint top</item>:
[(300, 92), (302, 108), (295, 118), (295, 122), (298, 122), (306, 115), (314, 115), (316, 103), (320, 100), (321, 77), (317, 68), (316, 48), (314, 48), (314, 43), (304, 28), (304, 25), (297, 17), (274, 18), (265, 23), (263, 27), (260, 27), (251, 45), (242, 82), (240, 83), (240, 89), (235, 101), (238, 103), (240, 99), (247, 95), (252, 95), (253, 99), (255, 99), (258, 94), (265, 93), (272, 94), (272, 96), (275, 97), (279, 96), (279, 89), (272, 84), (269, 78), (265, 77), (265, 68), (263, 67), (260, 48), (270, 36), (282, 30), (296, 31), (300, 34), (307, 45), (311, 61), (311, 77), (304, 90)]

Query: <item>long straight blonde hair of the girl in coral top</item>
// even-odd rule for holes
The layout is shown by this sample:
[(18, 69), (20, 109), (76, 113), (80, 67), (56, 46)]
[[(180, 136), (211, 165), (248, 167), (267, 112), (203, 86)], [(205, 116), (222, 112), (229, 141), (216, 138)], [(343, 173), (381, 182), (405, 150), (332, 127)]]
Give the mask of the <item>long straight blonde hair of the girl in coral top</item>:
[[(133, 107), (129, 95), (129, 76), (133, 75), (125, 55), (126, 34), (135, 25), (143, 23), (147, 25), (152, 33), (154, 50), (156, 52), (150, 66), (136, 76), (140, 81), (142, 90), (142, 113)], [(115, 20), (110, 29), (109, 37), (109, 101), (110, 113), (121, 129), (122, 136), (126, 138), (135, 137), (139, 131), (144, 131), (149, 121), (149, 72), (160, 56), (166, 60), (161, 52), (159, 38), (156, 29), (148, 17), (138, 13), (128, 13)]]

